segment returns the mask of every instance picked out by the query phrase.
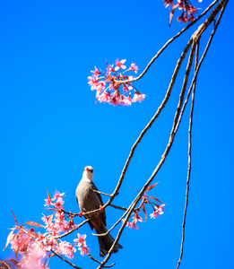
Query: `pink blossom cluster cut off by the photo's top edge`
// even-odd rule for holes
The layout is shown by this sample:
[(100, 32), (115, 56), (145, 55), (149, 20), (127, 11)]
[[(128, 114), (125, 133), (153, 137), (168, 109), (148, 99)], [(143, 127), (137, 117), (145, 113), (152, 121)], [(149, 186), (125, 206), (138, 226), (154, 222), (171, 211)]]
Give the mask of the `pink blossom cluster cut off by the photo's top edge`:
[[(182, 10), (180, 16), (178, 16), (178, 22), (193, 22), (195, 20), (195, 13), (197, 13), (197, 8), (188, 0), (177, 0), (177, 4), (174, 4), (173, 0), (162, 0), (165, 7), (171, 6), (171, 12), (169, 14), (169, 25), (172, 21), (175, 10)], [(203, 0), (197, 0), (198, 2), (203, 2)]]

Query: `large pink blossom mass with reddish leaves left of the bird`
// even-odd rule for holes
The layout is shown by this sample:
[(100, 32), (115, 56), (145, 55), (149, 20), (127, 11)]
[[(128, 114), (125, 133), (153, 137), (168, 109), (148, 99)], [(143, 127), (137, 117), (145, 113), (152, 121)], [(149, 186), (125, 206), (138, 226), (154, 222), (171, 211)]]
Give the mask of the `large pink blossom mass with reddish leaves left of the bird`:
[[(26, 269), (48, 269), (48, 259), (55, 256), (55, 252), (56, 255), (64, 255), (71, 259), (74, 258), (75, 247), (79, 247), (82, 255), (88, 254), (89, 248), (85, 242), (86, 235), (78, 234), (78, 239), (74, 239), (74, 243), (59, 238), (60, 235), (77, 227), (73, 221), (74, 215), (64, 211), (64, 196), (65, 194), (56, 192), (53, 198), (48, 195), (48, 199), (45, 199), (45, 206), (49, 207), (50, 211), (54, 211), (48, 216), (43, 214), (42, 221), (44, 221), (45, 226), (34, 221), (28, 221), (23, 225), (18, 224), (13, 215), (16, 225), (11, 229), (5, 247), (10, 243), (15, 255), (22, 256), (19, 263), (13, 259), (10, 260), (14, 265)], [(33, 228), (28, 229), (25, 225), (43, 228), (46, 231), (41, 234)]]

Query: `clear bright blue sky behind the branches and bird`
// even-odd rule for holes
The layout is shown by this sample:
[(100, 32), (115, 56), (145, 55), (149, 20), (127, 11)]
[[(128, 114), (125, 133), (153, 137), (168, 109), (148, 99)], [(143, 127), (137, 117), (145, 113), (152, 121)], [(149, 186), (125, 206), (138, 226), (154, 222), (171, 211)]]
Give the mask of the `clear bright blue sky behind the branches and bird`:
[[(193, 1), (194, 3), (195, 1)], [(196, 4), (204, 10), (212, 1)], [(186, 219), (183, 268), (233, 268), (233, 3), (227, 9), (198, 76), (192, 145), (192, 172)], [(176, 13), (178, 15), (179, 13)], [(4, 1), (0, 8), (0, 178), (2, 182), (0, 249), (14, 225), (41, 222), (47, 190), (65, 192), (65, 209), (78, 213), (74, 190), (86, 165), (94, 168), (100, 191), (112, 193), (130, 149), (165, 96), (188, 30), (134, 86), (147, 95), (132, 107), (95, 104), (87, 77), (126, 58), (140, 72), (183, 24), (162, 1)], [(198, 25), (198, 24), (197, 24)], [(209, 28), (211, 32), (212, 28)], [(204, 48), (207, 34), (202, 36)], [(186, 65), (182, 65), (185, 70)], [(143, 137), (126, 172), (116, 204), (128, 206), (151, 176), (169, 140), (182, 74), (166, 108)], [(126, 228), (123, 249), (110, 262), (115, 268), (175, 268), (183, 218), (189, 109), (183, 117), (167, 161), (153, 182), (151, 195), (166, 204), (156, 220)], [(106, 201), (106, 197), (103, 198)], [(148, 214), (152, 213), (148, 209)], [(119, 212), (108, 208), (108, 227)], [(77, 219), (77, 222), (81, 221)], [(84, 226), (91, 255), (98, 240)], [(115, 236), (117, 230), (112, 234)], [(71, 237), (70, 239), (73, 239)], [(10, 247), (0, 252), (8, 257)], [(74, 264), (95, 268), (77, 253)], [(70, 268), (56, 257), (50, 268)]]

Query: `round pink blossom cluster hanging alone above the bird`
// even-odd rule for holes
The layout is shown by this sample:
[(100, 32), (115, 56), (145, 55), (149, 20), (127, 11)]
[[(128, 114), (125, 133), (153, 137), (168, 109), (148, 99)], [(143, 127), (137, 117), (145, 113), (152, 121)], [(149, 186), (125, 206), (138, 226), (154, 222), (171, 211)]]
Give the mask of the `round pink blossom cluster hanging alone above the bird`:
[[(96, 100), (107, 102), (113, 106), (131, 106), (133, 102), (144, 100), (145, 94), (137, 91), (132, 85), (131, 81), (134, 77), (125, 74), (129, 71), (133, 71), (136, 74), (138, 67), (132, 63), (126, 69), (125, 63), (126, 60), (119, 61), (117, 59), (115, 67), (107, 63), (106, 72), (101, 71), (97, 67), (95, 67), (94, 71), (91, 71), (92, 75), (88, 77), (88, 83), (91, 85), (91, 91), (96, 91)], [(122, 93), (120, 88), (122, 88)], [(134, 94), (132, 94), (133, 91)], [(131, 95), (134, 95), (133, 98)]]

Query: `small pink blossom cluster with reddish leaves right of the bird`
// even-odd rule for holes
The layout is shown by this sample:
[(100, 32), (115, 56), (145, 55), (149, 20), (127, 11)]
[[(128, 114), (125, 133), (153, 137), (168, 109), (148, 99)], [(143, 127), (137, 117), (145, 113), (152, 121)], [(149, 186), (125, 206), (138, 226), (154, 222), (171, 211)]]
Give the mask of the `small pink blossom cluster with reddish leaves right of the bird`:
[[(160, 202), (160, 200), (157, 199), (156, 197), (147, 196), (147, 192), (148, 192), (149, 190), (151, 190), (153, 187), (155, 187), (156, 185), (157, 185), (157, 183), (156, 183), (156, 184), (153, 184), (153, 185), (150, 186), (150, 187), (147, 187), (146, 190), (145, 190), (145, 192), (144, 192), (144, 194), (143, 194), (143, 197), (142, 197), (143, 202), (142, 202), (142, 204), (141, 204), (141, 209), (143, 210), (143, 213), (145, 214), (145, 221), (146, 221), (146, 219), (147, 219), (147, 214), (146, 214), (146, 209), (145, 209), (144, 204), (151, 204), (151, 205), (152, 205), (153, 212), (152, 212), (152, 214), (150, 214), (150, 216), (151, 216), (151, 218), (153, 218), (153, 219), (155, 219), (156, 217), (159, 217), (161, 214), (163, 214), (163, 211), (164, 211), (164, 206), (165, 206), (165, 204), (162, 204), (162, 203)], [(161, 205), (156, 204), (156, 203), (152, 202), (151, 200), (157, 201), (157, 202), (159, 202)], [(140, 216), (138, 215), (138, 213), (141, 213), (141, 210), (140, 210), (140, 209), (138, 209), (137, 211), (135, 211), (135, 212), (133, 213), (133, 221), (131, 221), (131, 222), (130, 222), (130, 221), (127, 221), (127, 222), (126, 222), (126, 227), (129, 227), (130, 229), (133, 229), (133, 230), (138, 230), (138, 229), (139, 229), (139, 227), (136, 226), (135, 223), (136, 223), (137, 221), (143, 222), (143, 218), (140, 217)], [(124, 221), (124, 220), (123, 220), (123, 221)]]

